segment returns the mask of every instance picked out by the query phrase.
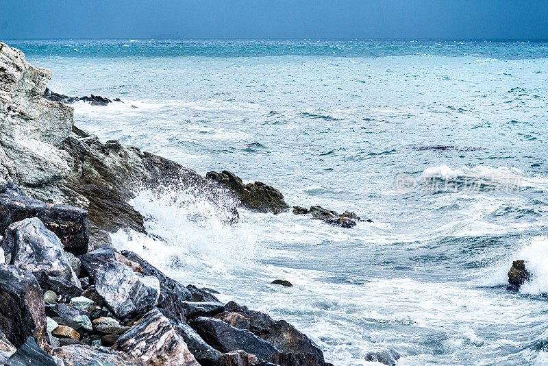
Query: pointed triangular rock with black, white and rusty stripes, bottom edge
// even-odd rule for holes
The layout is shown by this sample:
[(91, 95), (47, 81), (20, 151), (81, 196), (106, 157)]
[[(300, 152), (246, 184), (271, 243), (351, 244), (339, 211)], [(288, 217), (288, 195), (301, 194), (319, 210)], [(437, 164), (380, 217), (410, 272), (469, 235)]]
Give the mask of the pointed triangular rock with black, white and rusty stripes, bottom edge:
[[(161, 341), (160, 341), (161, 340)], [(150, 310), (112, 346), (148, 366), (199, 366), (182, 337), (158, 309)]]

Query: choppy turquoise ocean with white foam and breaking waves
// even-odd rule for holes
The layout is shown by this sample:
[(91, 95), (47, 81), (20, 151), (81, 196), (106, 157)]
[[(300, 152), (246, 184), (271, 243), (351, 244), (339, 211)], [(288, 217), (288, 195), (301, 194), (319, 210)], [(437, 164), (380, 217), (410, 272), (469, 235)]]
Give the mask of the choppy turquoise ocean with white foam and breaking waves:
[[(184, 284), (308, 334), (334, 365), (548, 365), (548, 42), (5, 40), (53, 71), (75, 124), (201, 174), (229, 170), (336, 228), (173, 189), (118, 232)], [(506, 290), (512, 260), (532, 280)], [(277, 278), (293, 287), (270, 284)]]

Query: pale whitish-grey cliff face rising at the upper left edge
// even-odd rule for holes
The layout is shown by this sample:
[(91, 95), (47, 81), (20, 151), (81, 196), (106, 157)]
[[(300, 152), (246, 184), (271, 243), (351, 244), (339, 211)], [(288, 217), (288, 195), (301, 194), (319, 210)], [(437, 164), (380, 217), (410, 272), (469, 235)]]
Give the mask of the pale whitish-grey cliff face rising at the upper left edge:
[(0, 51), (0, 184), (13, 182), (43, 196), (69, 175), (71, 156), (58, 149), (71, 133), (73, 108), (42, 97), (51, 71)]

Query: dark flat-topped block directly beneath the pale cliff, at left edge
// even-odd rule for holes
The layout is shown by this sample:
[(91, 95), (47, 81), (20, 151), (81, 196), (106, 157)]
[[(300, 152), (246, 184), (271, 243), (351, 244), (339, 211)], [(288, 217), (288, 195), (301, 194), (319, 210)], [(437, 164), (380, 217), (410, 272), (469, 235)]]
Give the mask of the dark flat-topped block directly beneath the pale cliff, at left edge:
[(27, 218), (38, 217), (46, 228), (60, 239), (63, 247), (74, 254), (88, 252), (88, 212), (66, 205), (52, 205), (28, 196), (9, 195), (13, 188), (0, 194), (0, 232)]

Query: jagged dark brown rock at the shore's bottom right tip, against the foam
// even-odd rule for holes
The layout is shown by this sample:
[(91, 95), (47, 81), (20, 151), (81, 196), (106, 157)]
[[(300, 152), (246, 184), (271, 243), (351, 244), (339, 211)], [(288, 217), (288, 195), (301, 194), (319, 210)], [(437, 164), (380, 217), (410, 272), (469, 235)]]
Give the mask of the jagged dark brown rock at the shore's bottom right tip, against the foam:
[[(261, 339), (268, 341), (281, 353), (268, 361), (280, 365), (323, 365), (323, 352), (306, 334), (299, 332), (284, 320), (273, 320), (260, 311), (249, 310), (236, 302), (225, 305), (225, 311), (216, 318), (236, 328), (250, 330)], [(251, 352), (253, 353), (253, 352)]]

